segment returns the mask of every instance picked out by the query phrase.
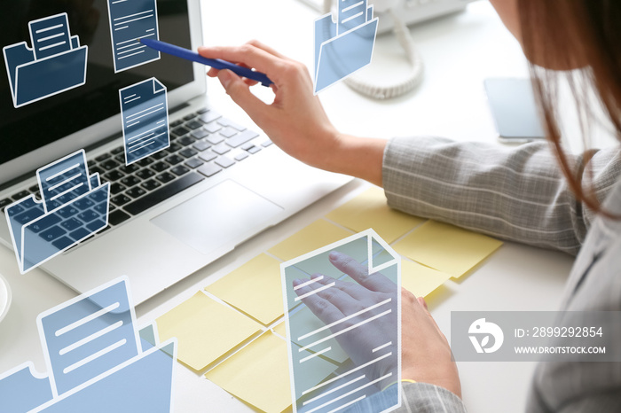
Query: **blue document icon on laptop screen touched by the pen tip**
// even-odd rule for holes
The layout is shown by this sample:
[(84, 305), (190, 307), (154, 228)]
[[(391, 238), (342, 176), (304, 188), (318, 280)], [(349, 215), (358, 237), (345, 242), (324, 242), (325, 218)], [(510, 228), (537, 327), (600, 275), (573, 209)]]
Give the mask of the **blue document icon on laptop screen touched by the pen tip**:
[(140, 43), (159, 40), (155, 0), (107, 0), (112, 35), (114, 73), (160, 58), (160, 52)]

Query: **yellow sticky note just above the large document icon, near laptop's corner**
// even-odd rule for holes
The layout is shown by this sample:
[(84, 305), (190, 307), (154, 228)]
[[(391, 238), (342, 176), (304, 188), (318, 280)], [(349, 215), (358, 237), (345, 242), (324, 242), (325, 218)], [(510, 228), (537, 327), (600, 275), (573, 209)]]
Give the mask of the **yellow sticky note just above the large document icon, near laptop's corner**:
[(272, 246), (268, 253), (276, 255), (283, 261), (289, 261), (350, 235), (352, 233), (348, 230), (343, 230), (325, 220), (318, 220), (280, 244)]

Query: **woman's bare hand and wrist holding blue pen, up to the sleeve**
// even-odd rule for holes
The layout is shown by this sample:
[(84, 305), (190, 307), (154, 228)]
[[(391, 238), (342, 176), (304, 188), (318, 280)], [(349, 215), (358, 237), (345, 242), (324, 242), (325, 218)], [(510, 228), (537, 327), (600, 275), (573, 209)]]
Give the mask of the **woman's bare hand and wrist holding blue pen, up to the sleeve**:
[(251, 67), (274, 82), (274, 101), (267, 105), (249, 90), (256, 82), (230, 70), (208, 71), (208, 76), (217, 76), (226, 93), (280, 149), (313, 167), (358, 176), (381, 186), (386, 141), (339, 133), (313, 95), (311, 76), (302, 63), (257, 41), (233, 47), (200, 47), (199, 53)]

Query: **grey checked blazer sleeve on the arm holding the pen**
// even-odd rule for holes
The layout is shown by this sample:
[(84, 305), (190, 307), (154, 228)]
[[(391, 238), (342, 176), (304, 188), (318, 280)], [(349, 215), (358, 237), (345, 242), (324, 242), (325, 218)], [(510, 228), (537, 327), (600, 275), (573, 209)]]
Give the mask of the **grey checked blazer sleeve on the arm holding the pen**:
[[(573, 160), (579, 165), (582, 158)], [(575, 199), (557, 165), (546, 142), (507, 148), (398, 137), (384, 151), (382, 180), (389, 206), (408, 214), (575, 255), (593, 213)], [(621, 172), (619, 150), (596, 152), (589, 167), (605, 199)]]

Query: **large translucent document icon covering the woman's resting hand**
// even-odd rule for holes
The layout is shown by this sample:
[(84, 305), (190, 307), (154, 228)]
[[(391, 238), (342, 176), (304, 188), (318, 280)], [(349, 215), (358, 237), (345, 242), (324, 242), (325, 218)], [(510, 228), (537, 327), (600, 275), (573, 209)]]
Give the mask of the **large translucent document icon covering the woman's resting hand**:
[[(283, 262), (280, 274), (294, 412), (397, 409), (401, 386), (390, 385), (401, 379), (399, 255), (365, 230)], [(318, 358), (338, 367), (304, 385)]]

